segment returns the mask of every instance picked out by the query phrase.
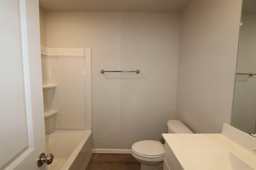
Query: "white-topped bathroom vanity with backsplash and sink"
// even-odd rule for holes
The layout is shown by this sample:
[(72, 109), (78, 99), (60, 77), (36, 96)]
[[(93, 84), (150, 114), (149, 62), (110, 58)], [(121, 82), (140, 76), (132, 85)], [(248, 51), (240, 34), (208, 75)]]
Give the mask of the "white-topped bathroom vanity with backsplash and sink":
[(256, 138), (227, 123), (219, 134), (162, 134), (164, 170), (256, 170)]

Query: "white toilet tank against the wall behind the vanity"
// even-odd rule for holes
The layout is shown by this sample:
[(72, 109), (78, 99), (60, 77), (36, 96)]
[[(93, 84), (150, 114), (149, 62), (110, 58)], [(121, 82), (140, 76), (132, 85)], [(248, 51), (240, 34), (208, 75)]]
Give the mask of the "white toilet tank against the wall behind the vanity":
[(168, 133), (193, 133), (186, 125), (178, 120), (169, 120), (167, 122), (167, 128)]

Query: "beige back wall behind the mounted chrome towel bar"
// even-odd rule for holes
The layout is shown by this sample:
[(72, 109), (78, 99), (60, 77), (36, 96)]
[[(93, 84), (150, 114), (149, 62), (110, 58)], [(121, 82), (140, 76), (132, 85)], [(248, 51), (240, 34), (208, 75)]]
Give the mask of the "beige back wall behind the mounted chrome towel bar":
[(45, 17), (48, 47), (92, 48), (94, 148), (159, 141), (166, 122), (175, 118), (180, 15), (46, 12)]

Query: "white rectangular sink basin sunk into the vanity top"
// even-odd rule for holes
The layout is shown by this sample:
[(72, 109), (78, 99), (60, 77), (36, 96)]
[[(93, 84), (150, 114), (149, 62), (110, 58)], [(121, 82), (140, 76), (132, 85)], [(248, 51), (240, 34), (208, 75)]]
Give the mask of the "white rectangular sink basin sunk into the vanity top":
[(254, 170), (224, 149), (187, 149), (186, 154), (194, 170)]

